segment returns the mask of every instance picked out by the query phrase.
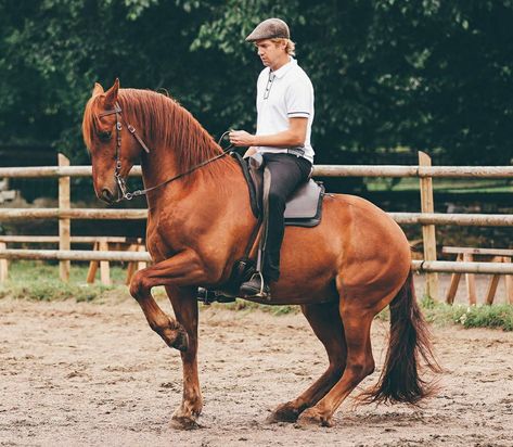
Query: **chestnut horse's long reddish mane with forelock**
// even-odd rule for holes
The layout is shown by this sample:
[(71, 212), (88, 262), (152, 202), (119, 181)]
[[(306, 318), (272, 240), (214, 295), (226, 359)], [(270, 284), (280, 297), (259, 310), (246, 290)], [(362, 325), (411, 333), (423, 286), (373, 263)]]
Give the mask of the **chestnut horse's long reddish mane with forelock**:
[[(98, 128), (98, 116), (92, 106), (97, 98), (91, 98), (84, 115), (82, 128), (88, 145)], [(123, 118), (137, 128), (150, 151), (154, 148), (174, 151), (178, 173), (184, 173), (221, 152), (211, 136), (172, 98), (150, 90), (119, 89), (118, 103)], [(226, 174), (227, 167), (233, 170), (235, 166), (234, 161), (226, 156), (201, 170), (220, 176)]]

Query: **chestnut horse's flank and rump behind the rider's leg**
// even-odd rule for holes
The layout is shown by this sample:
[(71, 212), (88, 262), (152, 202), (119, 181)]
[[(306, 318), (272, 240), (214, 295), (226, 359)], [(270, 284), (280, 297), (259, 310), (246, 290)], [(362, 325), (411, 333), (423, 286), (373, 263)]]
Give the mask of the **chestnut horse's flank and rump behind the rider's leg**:
[(287, 227), (281, 251), (277, 303), (319, 303), (344, 291), (376, 298), (395, 294), (410, 270), (408, 240), (397, 224), (370, 202), (326, 196), (321, 224)]

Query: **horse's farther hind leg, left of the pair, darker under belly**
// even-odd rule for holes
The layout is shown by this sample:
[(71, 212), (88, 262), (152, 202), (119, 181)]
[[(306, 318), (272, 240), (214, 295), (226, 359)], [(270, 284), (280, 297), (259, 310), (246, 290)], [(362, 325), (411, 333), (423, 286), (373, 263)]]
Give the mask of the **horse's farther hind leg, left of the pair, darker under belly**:
[(303, 305), (302, 311), (313, 332), (324, 345), (330, 366), (300, 396), (280, 405), (269, 422), (295, 422), (307, 408), (316, 405), (341, 379), (346, 365), (346, 342), (338, 311), (338, 302)]

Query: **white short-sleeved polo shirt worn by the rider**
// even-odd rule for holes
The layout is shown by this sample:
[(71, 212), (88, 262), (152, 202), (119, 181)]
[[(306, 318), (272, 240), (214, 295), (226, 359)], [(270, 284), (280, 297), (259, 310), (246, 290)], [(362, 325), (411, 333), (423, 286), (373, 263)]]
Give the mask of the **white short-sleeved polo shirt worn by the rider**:
[[(266, 67), (258, 76), (256, 106), (258, 112), (257, 136), (272, 135), (288, 129), (288, 118), (308, 118), (304, 157), (313, 163), (310, 144), (313, 122), (313, 87), (307, 74), (291, 58), (290, 62), (271, 72)], [(291, 148), (292, 149), (292, 148)], [(286, 148), (257, 146), (259, 153), (286, 153)]]

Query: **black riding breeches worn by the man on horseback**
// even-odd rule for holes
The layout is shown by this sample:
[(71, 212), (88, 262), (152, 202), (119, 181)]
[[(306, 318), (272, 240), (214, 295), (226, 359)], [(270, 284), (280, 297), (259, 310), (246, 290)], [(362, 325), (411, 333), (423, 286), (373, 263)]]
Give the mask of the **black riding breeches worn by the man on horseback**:
[(262, 274), (268, 281), (280, 277), (280, 248), (285, 232), (286, 200), (308, 180), (311, 163), (292, 154), (262, 154), (270, 173), (268, 218), (264, 242)]

